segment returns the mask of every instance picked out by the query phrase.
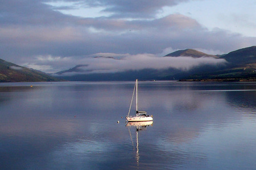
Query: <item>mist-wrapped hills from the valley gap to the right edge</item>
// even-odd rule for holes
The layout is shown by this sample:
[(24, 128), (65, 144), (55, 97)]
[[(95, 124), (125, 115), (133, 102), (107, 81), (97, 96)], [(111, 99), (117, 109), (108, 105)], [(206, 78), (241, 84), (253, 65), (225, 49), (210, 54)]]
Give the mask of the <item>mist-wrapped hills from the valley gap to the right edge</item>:
[(139, 61), (135, 57), (123, 59), (103, 57), (101, 59), (104, 60), (97, 62), (105, 65), (111, 63), (111, 67), (97, 67), (98, 63), (96, 65), (91, 61), (54, 75), (67, 80), (223, 79), (236, 78), (236, 76), (237, 78), (254, 78), (255, 54), (255, 46), (251, 46), (216, 56), (198, 50), (185, 49), (158, 58), (139, 56), (144, 57), (144, 61)]

